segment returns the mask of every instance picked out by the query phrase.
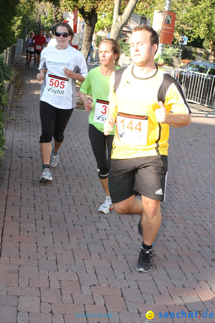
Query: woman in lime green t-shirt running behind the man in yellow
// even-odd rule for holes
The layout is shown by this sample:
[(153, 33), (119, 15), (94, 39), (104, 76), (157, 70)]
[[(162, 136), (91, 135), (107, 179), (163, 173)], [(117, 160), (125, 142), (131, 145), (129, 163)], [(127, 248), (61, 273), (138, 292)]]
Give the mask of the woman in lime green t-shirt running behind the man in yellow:
[(91, 100), (86, 99), (86, 94), (93, 95), (93, 109), (89, 115), (89, 138), (97, 162), (99, 179), (107, 194), (104, 203), (98, 209), (101, 213), (108, 213), (113, 208), (108, 190), (108, 173), (111, 163), (114, 129), (108, 136), (105, 136), (103, 126), (107, 118), (109, 105), (109, 82), (111, 75), (120, 68), (118, 65), (120, 53), (120, 47), (116, 40), (111, 38), (101, 40), (99, 43), (101, 66), (89, 71), (79, 91), (79, 98), (84, 103), (86, 111), (90, 111), (92, 108)]

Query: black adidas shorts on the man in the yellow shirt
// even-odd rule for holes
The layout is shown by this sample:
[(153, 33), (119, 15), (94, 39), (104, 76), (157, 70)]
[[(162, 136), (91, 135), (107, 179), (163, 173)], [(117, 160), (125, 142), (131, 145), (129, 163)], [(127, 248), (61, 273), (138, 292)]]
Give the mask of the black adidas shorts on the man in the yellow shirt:
[(108, 175), (112, 203), (122, 202), (136, 193), (165, 201), (167, 166), (166, 155), (112, 159)]

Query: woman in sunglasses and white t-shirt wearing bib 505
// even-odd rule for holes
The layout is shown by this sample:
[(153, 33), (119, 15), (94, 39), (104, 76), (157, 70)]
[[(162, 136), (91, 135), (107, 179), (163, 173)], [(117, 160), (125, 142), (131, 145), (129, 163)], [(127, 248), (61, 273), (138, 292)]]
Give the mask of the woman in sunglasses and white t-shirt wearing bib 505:
[(53, 26), (52, 32), (57, 45), (43, 49), (37, 74), (37, 79), (44, 81), (40, 96), (40, 149), (43, 161), (40, 183), (52, 181), (50, 166), (58, 164), (64, 130), (76, 106), (75, 83), (76, 80), (83, 82), (87, 75), (83, 54), (69, 46), (74, 36), (71, 26), (60, 22)]

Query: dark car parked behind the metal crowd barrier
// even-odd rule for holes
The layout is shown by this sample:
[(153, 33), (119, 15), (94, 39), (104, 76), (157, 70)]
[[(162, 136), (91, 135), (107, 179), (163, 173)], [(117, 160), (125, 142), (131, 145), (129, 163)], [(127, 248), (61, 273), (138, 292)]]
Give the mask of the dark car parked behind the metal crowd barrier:
[(206, 60), (193, 60), (183, 69), (175, 70), (174, 78), (188, 101), (213, 106), (215, 96), (215, 63)]

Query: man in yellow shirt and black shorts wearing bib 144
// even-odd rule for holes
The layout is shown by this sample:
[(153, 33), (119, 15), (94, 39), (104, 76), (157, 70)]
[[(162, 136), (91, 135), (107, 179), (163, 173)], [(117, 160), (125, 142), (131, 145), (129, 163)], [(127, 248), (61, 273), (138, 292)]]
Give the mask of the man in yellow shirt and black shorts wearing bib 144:
[[(180, 84), (154, 63), (158, 43), (153, 28), (141, 25), (133, 29), (130, 50), (134, 65), (112, 75), (104, 124), (108, 135), (116, 122), (108, 177), (114, 208), (119, 214), (142, 217), (138, 228), (143, 242), (136, 266), (141, 272), (153, 266), (152, 245), (161, 225), (169, 126), (183, 127), (191, 122)], [(142, 201), (135, 198), (136, 192)]]

